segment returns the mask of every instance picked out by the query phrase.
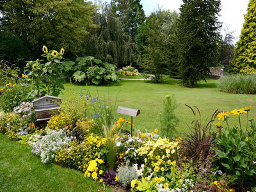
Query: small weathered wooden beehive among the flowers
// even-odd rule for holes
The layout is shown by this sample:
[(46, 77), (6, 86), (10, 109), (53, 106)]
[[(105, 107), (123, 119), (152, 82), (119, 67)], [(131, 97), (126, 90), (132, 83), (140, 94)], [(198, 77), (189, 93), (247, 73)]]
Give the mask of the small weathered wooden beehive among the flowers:
[(35, 108), (36, 121), (49, 120), (52, 115), (57, 113), (60, 109), (60, 97), (45, 95), (39, 99), (33, 100), (33, 107)]

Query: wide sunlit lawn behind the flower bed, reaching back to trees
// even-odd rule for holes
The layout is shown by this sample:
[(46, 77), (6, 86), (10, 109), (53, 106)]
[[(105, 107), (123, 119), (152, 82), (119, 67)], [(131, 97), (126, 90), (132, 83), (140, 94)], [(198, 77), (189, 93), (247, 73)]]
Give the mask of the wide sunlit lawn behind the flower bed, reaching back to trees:
[[(101, 99), (111, 97), (112, 102), (117, 106), (140, 109), (141, 114), (134, 118), (137, 129), (148, 129), (150, 131), (159, 127), (159, 112), (163, 108), (165, 93), (174, 94), (178, 108), (176, 115), (180, 122), (178, 130), (185, 132), (188, 130), (186, 124), (193, 120), (193, 113), (185, 106), (197, 106), (202, 113), (202, 121), (209, 119), (216, 109), (232, 110), (252, 106), (250, 117), (256, 118), (256, 95), (236, 95), (223, 93), (217, 88), (218, 80), (207, 79), (207, 83), (200, 83), (198, 88), (184, 88), (179, 85), (179, 79), (166, 79), (164, 83), (151, 83), (150, 81), (122, 81), (111, 85), (83, 86), (77, 84), (65, 84), (63, 99), (67, 98), (68, 93), (73, 92), (79, 98), (79, 93), (90, 91), (93, 97), (99, 96)], [(118, 115), (123, 116), (123, 115)], [(246, 116), (242, 116), (245, 121)], [(237, 116), (230, 115), (230, 125), (238, 125)]]

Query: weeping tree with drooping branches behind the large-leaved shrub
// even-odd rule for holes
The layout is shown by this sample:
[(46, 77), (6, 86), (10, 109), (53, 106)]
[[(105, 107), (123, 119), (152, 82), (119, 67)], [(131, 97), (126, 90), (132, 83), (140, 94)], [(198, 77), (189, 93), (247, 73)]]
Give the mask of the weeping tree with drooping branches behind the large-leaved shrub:
[(118, 67), (134, 63), (136, 44), (131, 36), (122, 31), (121, 23), (114, 17), (108, 3), (102, 5), (94, 24), (99, 28), (91, 29), (90, 35), (86, 36), (84, 56), (94, 56)]

